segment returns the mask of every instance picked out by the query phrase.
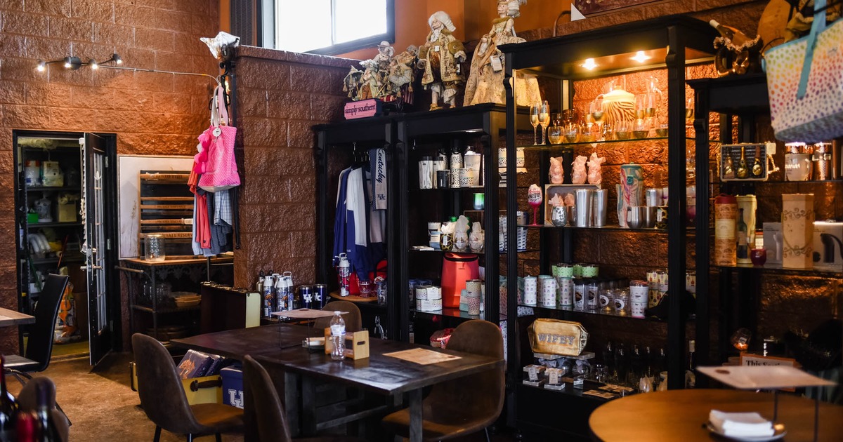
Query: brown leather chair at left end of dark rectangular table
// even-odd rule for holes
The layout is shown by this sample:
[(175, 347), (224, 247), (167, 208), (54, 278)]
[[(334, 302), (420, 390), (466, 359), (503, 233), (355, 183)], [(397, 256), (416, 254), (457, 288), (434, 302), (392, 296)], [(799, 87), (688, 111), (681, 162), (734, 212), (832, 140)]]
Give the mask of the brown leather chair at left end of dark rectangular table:
[(191, 405), (173, 358), (157, 339), (145, 334), (132, 335), (132, 349), (137, 370), (137, 393), (143, 412), (155, 423), (155, 442), (161, 429), (193, 436), (221, 433), (243, 433), (243, 410), (220, 403)]

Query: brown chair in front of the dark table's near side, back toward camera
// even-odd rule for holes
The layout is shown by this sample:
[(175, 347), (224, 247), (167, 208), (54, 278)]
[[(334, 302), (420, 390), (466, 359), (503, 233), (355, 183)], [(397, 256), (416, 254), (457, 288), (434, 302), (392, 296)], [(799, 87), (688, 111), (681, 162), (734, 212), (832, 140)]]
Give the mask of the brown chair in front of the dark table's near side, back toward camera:
[(272, 379), (263, 365), (249, 356), (243, 358), (243, 381), (248, 383), (246, 400), (250, 401), (257, 419), (258, 440), (276, 442), (330, 442), (355, 441), (357, 438), (343, 436), (328, 436), (307, 439), (293, 439), (287, 425), (287, 413), (278, 397), (278, 392), (272, 384)]

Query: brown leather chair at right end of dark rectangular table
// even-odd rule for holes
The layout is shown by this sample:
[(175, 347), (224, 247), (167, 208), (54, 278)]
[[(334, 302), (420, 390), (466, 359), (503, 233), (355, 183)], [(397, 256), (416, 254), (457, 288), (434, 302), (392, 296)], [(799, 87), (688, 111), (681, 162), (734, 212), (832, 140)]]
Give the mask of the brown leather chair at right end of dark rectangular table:
[[(481, 319), (463, 322), (451, 334), (448, 349), (503, 359), (501, 329)], [(503, 390), (503, 366), (432, 386), (422, 402), (424, 439), (451, 439), (486, 429), (501, 414)], [(383, 423), (395, 434), (407, 437), (410, 410), (389, 414)]]

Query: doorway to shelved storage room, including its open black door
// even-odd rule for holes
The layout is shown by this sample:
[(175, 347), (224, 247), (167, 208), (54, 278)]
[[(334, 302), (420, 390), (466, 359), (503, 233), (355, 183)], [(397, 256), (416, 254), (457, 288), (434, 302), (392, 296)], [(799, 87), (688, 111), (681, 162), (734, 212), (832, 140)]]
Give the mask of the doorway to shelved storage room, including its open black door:
[(121, 342), (116, 205), (107, 204), (117, 199), (116, 135), (12, 135), (19, 311), (33, 311), (46, 274), (67, 274), (52, 356), (95, 365)]

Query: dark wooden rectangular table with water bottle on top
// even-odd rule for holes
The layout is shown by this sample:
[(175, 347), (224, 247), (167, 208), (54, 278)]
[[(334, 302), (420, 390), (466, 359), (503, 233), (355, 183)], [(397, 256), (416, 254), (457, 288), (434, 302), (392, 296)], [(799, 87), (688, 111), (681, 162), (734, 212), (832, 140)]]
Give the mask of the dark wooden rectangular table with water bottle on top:
[[(407, 393), (410, 407), (410, 440), (421, 441), (422, 390), (438, 382), (448, 381), (484, 370), (500, 368), (503, 359), (478, 354), (468, 354), (447, 349), (383, 339), (371, 339), (369, 357), (341, 361), (330, 359), (324, 350), (305, 349), (302, 340), (308, 336), (324, 336), (322, 330), (288, 324), (257, 328), (243, 328), (217, 333), (207, 333), (191, 338), (173, 339), (170, 342), (181, 348), (196, 349), (228, 358), (243, 359), (245, 354), (260, 361), (270, 371), (273, 381), (283, 381), (283, 397), (291, 433), (312, 435), (319, 429), (329, 428), (352, 420), (385, 413), (388, 407), (351, 413), (340, 418), (319, 422), (316, 407), (316, 386), (331, 383), (382, 395), (391, 403), (400, 402)], [(454, 359), (432, 364), (420, 364), (389, 355), (395, 352), (428, 350), (455, 356)], [(426, 354), (423, 351), (422, 354)], [(428, 354), (436, 356), (436, 354)], [(283, 379), (280, 379), (280, 378)], [(300, 387), (299, 387), (300, 386)], [(280, 391), (280, 389), (279, 389)], [(248, 395), (248, 391), (244, 391)], [(390, 401), (387, 401), (388, 403)], [(247, 407), (249, 401), (245, 402)], [(246, 419), (254, 418), (244, 408)], [(248, 429), (249, 425), (247, 425)], [(254, 435), (246, 434), (246, 439)]]

